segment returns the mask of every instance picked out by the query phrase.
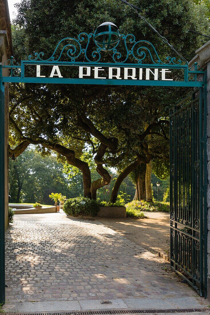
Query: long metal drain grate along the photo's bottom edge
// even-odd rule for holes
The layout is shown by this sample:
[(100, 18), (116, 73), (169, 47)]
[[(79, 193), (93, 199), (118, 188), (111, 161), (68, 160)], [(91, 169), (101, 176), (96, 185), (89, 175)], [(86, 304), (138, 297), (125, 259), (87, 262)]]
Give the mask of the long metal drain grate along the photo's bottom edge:
[(43, 312), (43, 313), (6, 313), (6, 315), (109, 315), (109, 314), (155, 314), (155, 313), (191, 313), (205, 312), (206, 308), (180, 309), (141, 309), (141, 310), (102, 310), (78, 312)]

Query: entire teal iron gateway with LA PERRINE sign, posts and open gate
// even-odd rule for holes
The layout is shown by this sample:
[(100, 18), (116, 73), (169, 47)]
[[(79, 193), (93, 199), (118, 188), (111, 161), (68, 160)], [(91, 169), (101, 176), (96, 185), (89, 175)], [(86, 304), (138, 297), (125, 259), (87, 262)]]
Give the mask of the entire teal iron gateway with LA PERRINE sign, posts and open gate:
[[(105, 62), (105, 60), (111, 59), (110, 62)], [(2, 76), (2, 69), (9, 69), (9, 76)], [(65, 71), (63, 69), (65, 68)], [(64, 74), (66, 76), (64, 76)], [(66, 74), (67, 73), (67, 74)], [(4, 83), (40, 83), (40, 84), (96, 84), (96, 85), (136, 85), (136, 86), (174, 86), (174, 87), (194, 87), (204, 91), (204, 102), (203, 111), (205, 117), (206, 111), (206, 82), (205, 82), (205, 72), (199, 69), (197, 63), (195, 63), (191, 68), (188, 66), (187, 62), (183, 62), (181, 59), (176, 60), (175, 57), (166, 56), (165, 60), (162, 60), (158, 55), (154, 45), (147, 40), (136, 41), (136, 38), (133, 34), (121, 34), (118, 31), (117, 26), (113, 23), (105, 23), (100, 25), (94, 33), (82, 32), (77, 38), (66, 37), (62, 39), (56, 46), (55, 51), (49, 58), (44, 58), (44, 52), (36, 52), (34, 55), (29, 55), (27, 60), (21, 60), (20, 64), (16, 63), (15, 59), (11, 57), (8, 60), (8, 63), (5, 65), (0, 65), (0, 106), (1, 106), (1, 116), (0, 116), (0, 128), (1, 128), (1, 150), (0, 150), (0, 303), (5, 301), (5, 279), (4, 279)], [(195, 95), (195, 92), (194, 92)], [(200, 96), (201, 98), (201, 96)], [(199, 99), (200, 99), (199, 98)], [(191, 105), (194, 104), (193, 102)], [(200, 104), (200, 103), (199, 103)], [(180, 104), (178, 104), (179, 106)], [(199, 105), (200, 106), (200, 105)], [(182, 106), (180, 107), (182, 108)], [(183, 109), (184, 110), (184, 109)], [(191, 109), (192, 111), (192, 109)], [(176, 112), (176, 113), (175, 113)], [(177, 142), (177, 133), (180, 132), (179, 128), (181, 123), (179, 121), (179, 109), (174, 107), (171, 111), (171, 118), (174, 117), (174, 121), (177, 121), (171, 127), (171, 242), (172, 242), (172, 253), (171, 253), (171, 265), (174, 267), (176, 272), (179, 272), (180, 275), (184, 276), (187, 281), (195, 288), (199, 290), (200, 294), (203, 294), (203, 289), (206, 287), (206, 267), (204, 272), (202, 269), (202, 264), (206, 266), (206, 257), (202, 256), (202, 244), (203, 238), (206, 239), (206, 229), (203, 230), (202, 218), (206, 222), (206, 212), (201, 218), (201, 190), (204, 195), (204, 209), (206, 209), (206, 190), (203, 187), (205, 183), (201, 182), (201, 175), (199, 175), (200, 180), (195, 182), (194, 175), (194, 185), (191, 186), (191, 194), (193, 195), (194, 190), (199, 191), (199, 215), (196, 212), (194, 216), (191, 216), (189, 219), (189, 209), (187, 219), (182, 219), (184, 214), (179, 215), (181, 211), (186, 211), (183, 208), (185, 203), (178, 203), (179, 194), (177, 190), (177, 185), (181, 180), (180, 176), (183, 176), (183, 173), (180, 173), (176, 169), (176, 163), (180, 163), (176, 160), (176, 152), (179, 152), (181, 148), (184, 149), (184, 146), (189, 145), (194, 146), (193, 136), (190, 138), (188, 136), (188, 142)], [(183, 115), (183, 114), (181, 114)], [(199, 107), (199, 122), (201, 121), (201, 109)], [(187, 119), (188, 116), (185, 116)], [(190, 116), (191, 124), (195, 127), (199, 124), (198, 120)], [(184, 118), (182, 118), (184, 119)], [(193, 120), (194, 119), (194, 120)], [(175, 127), (176, 126), (176, 127)], [(186, 127), (186, 122), (184, 123)], [(184, 128), (185, 128), (184, 127)], [(194, 128), (193, 127), (193, 128)], [(187, 127), (186, 127), (187, 128)], [(201, 127), (197, 127), (200, 130), (199, 137), (201, 137)], [(204, 128), (204, 133), (206, 132), (206, 125), (202, 126)], [(194, 130), (194, 129), (192, 129)], [(184, 131), (185, 132), (185, 131)], [(186, 131), (187, 132), (187, 131)], [(194, 134), (193, 134), (194, 135)], [(183, 138), (185, 139), (185, 138)], [(200, 139), (200, 138), (199, 138)], [(180, 140), (181, 141), (181, 140)], [(185, 140), (182, 140), (185, 141)], [(190, 142), (191, 141), (191, 142)], [(199, 142), (199, 144), (198, 144)], [(200, 148), (202, 140), (200, 139), (196, 142), (196, 149), (191, 151), (190, 154), (195, 153), (197, 148)], [(197, 165), (199, 165), (201, 174), (201, 167), (206, 168), (206, 152), (205, 152), (205, 141), (203, 142), (203, 155), (199, 155), (199, 161), (196, 159), (195, 172), (197, 172)], [(178, 147), (177, 147), (178, 146)], [(177, 148), (179, 148), (179, 151)], [(201, 149), (199, 149), (201, 152)], [(184, 151), (185, 152), (185, 151)], [(189, 154), (190, 151), (188, 151)], [(197, 152), (197, 151), (196, 151)], [(172, 157), (174, 156), (174, 159)], [(191, 156), (191, 155), (190, 155)], [(192, 155), (192, 158), (195, 158)], [(181, 160), (180, 160), (181, 161)], [(194, 160), (193, 160), (194, 161)], [(190, 163), (190, 160), (184, 163)], [(184, 164), (184, 165), (185, 165)], [(186, 167), (186, 166), (184, 166)], [(177, 171), (177, 174), (176, 174)], [(194, 170), (192, 169), (192, 172)], [(194, 172), (194, 173), (195, 173)], [(176, 175), (175, 175), (176, 174)], [(185, 174), (185, 173), (184, 173)], [(184, 175), (185, 176), (185, 175)], [(186, 181), (186, 180), (185, 180)], [(179, 189), (179, 191), (181, 191)], [(188, 194), (189, 197), (189, 188), (184, 194)], [(202, 196), (203, 196), (202, 195)], [(198, 195), (196, 195), (198, 196)], [(196, 197), (197, 198), (197, 197)], [(189, 203), (189, 198), (185, 198), (185, 201)], [(197, 199), (196, 199), (197, 200)], [(184, 202), (185, 202), (184, 201)], [(194, 203), (195, 204), (195, 203)], [(197, 209), (197, 208), (196, 208)], [(193, 210), (194, 211), (194, 208)], [(197, 210), (196, 210), (197, 211)], [(199, 217), (199, 218), (198, 218)], [(192, 222), (189, 220), (199, 219), (199, 225), (196, 221)], [(178, 221), (179, 220), (179, 221)], [(180, 221), (181, 220), (181, 221)], [(183, 221), (184, 220), (184, 221)], [(183, 232), (178, 228), (178, 224), (185, 225), (186, 228), (190, 229), (190, 233)], [(190, 226), (191, 224), (191, 226)], [(206, 224), (206, 223), (205, 223)], [(205, 226), (204, 224), (204, 226)], [(199, 226), (199, 228), (198, 228)], [(202, 228), (202, 230), (201, 230)], [(199, 236), (196, 234), (199, 233)], [(189, 235), (190, 236), (189, 236)], [(176, 236), (175, 236), (176, 235)], [(189, 252), (192, 254), (189, 258), (187, 255), (186, 248), (183, 247), (186, 244), (186, 241), (180, 241), (177, 238), (177, 235), (186, 239), (191, 237), (191, 247), (189, 247)], [(194, 242), (194, 243), (193, 243)], [(199, 266), (200, 270), (193, 265), (191, 268), (190, 263), (194, 261), (195, 264), (195, 251), (196, 246), (199, 242), (200, 252), (196, 257), (199, 256)], [(202, 243), (202, 244), (201, 244)], [(178, 245), (180, 244), (180, 245)], [(206, 244), (206, 243), (205, 243)], [(196, 245), (196, 246), (195, 246)], [(177, 249), (177, 246), (180, 249)], [(194, 246), (194, 247), (193, 247)], [(205, 245), (206, 246), (206, 245)], [(204, 250), (205, 253), (205, 250)], [(188, 264), (185, 263), (185, 260), (180, 259), (180, 255), (188, 257)], [(187, 269), (186, 269), (187, 268)], [(191, 269), (190, 269), (191, 268)], [(182, 273), (181, 269), (184, 273)], [(184, 269), (184, 270), (183, 270)], [(202, 270), (201, 270), (202, 269)], [(195, 277), (196, 272), (196, 277)], [(189, 274), (188, 274), (189, 273)], [(199, 276), (199, 274), (200, 276)], [(188, 276), (186, 277), (186, 274)], [(191, 277), (191, 278), (189, 278)], [(200, 278), (199, 278), (200, 277)], [(198, 280), (198, 278), (200, 280)], [(202, 280), (203, 278), (204, 280)], [(199, 284), (199, 285), (198, 285)]]

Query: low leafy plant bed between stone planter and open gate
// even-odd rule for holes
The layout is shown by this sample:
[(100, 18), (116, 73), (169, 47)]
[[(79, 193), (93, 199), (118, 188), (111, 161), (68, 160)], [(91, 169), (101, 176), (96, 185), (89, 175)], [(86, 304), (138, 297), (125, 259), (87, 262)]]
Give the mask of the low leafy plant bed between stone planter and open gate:
[(154, 211), (154, 212), (170, 212), (169, 202), (147, 202), (147, 201), (137, 201), (133, 200), (125, 205), (127, 210), (138, 210), (138, 211)]

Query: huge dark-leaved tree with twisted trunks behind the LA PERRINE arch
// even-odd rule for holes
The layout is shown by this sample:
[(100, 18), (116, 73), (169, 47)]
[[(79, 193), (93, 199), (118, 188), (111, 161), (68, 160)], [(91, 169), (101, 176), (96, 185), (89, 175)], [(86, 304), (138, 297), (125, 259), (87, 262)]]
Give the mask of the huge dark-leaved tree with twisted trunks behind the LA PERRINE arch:
[[(152, 3), (137, 0), (135, 4), (155, 28), (165, 31), (169, 42), (185, 58), (194, 56), (201, 39), (189, 33), (189, 28), (195, 30), (199, 25), (190, 0)], [(49, 6), (44, 0), (29, 0), (16, 6), (14, 48), (18, 60), (25, 59), (29, 51), (38, 50), (44, 50), (46, 57), (50, 57), (58, 40), (66, 37), (69, 30), (72, 36), (82, 30), (92, 32), (104, 20), (120, 26), (120, 33), (134, 33), (136, 38), (152, 42), (162, 60), (172, 54), (131, 8), (119, 2), (75, 0), (65, 1), (64, 6), (63, 1), (52, 0)], [(90, 56), (93, 50), (92, 45)], [(63, 60), (67, 60), (66, 55)], [(110, 55), (104, 53), (102, 60), (110, 61)], [(64, 75), (68, 75), (68, 70)], [(18, 156), (30, 143), (39, 145), (45, 154), (49, 150), (57, 152), (82, 172), (84, 196), (94, 199), (97, 190), (111, 181), (104, 165), (117, 167), (119, 176), (110, 197), (113, 202), (122, 181), (132, 170), (163, 156), (168, 143), (169, 100), (170, 105), (174, 104), (186, 89), (19, 84), (12, 85), (11, 92), (10, 154)], [(90, 165), (85, 160), (87, 146), (92, 149), (100, 175), (96, 180), (91, 179)]]

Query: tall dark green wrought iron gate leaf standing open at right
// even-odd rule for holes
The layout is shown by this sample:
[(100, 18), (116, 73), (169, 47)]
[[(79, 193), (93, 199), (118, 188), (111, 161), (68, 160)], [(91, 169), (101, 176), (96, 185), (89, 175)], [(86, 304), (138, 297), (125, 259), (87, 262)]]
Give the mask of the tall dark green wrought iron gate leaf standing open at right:
[(170, 109), (171, 267), (201, 296), (207, 288), (206, 90)]

